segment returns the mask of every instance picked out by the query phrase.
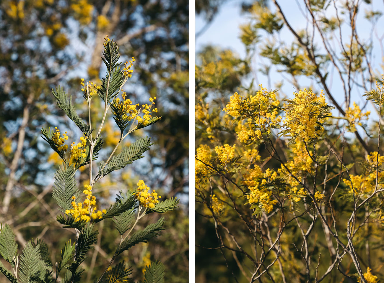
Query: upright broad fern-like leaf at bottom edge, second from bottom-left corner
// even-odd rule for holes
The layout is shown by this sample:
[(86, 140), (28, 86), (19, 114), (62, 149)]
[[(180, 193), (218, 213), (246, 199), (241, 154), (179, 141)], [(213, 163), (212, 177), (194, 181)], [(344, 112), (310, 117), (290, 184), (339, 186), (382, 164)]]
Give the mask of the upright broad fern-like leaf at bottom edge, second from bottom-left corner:
[(39, 249), (40, 244), (33, 247), (31, 242), (26, 243), (20, 256), (20, 265), (17, 272), (18, 280), (21, 283), (38, 282), (38, 277), (43, 271), (39, 264), (41, 262)]

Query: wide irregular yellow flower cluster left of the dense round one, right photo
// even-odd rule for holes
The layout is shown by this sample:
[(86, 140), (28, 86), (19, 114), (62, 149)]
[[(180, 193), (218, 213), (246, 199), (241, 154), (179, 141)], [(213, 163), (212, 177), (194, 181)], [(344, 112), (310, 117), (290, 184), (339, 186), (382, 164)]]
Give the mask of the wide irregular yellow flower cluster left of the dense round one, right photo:
[(281, 122), (278, 116), (280, 101), (276, 99), (275, 92), (268, 92), (261, 84), (259, 86), (256, 94), (249, 97), (240, 97), (235, 92), (223, 109), (233, 118), (244, 120), (245, 124), (237, 131), (238, 140), (243, 143), (260, 139), (262, 130), (270, 133), (271, 126)]

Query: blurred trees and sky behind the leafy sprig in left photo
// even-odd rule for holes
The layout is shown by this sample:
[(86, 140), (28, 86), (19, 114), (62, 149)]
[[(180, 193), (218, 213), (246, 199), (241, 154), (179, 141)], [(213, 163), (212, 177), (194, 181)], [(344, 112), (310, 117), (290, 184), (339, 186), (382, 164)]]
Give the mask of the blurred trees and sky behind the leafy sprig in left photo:
[[(142, 280), (142, 270), (150, 261), (160, 260), (166, 265), (167, 281), (187, 282), (186, 0), (1, 1), (0, 222), (12, 226), (19, 244), (42, 238), (52, 251), (52, 262), (60, 257), (57, 248), (64, 244), (61, 239), (66, 239), (62, 233), (68, 231), (63, 232), (56, 222), (58, 210), (51, 198), (53, 174), (60, 160), (40, 137), (40, 129), (57, 126), (62, 133), (68, 132), (69, 142), (78, 142), (81, 133), (56, 107), (51, 89), (63, 86), (73, 95), (77, 109), (83, 110), (79, 115), (88, 117), (80, 78), (101, 83), (99, 77), (106, 72), (101, 61), (106, 35), (118, 42), (121, 61), (136, 58), (133, 76), (124, 86), (127, 97), (145, 104), (156, 96), (162, 120), (132, 137), (152, 137), (154, 145), (146, 158), (104, 178), (94, 191), (103, 197), (101, 208), (108, 207), (118, 191), (136, 186), (139, 179), (164, 199), (179, 197), (179, 208), (167, 214), (167, 232), (153, 245), (137, 245), (122, 256), (127, 265), (138, 267), (134, 280)], [(99, 123), (104, 106), (99, 99), (92, 102), (92, 115)], [(118, 136), (110, 117), (103, 132), (101, 158), (109, 156)], [(78, 178), (82, 185), (83, 174)], [(118, 241), (113, 222), (103, 225), (99, 227), (98, 245), (86, 261), (87, 282), (94, 278), (95, 270), (108, 264)]]

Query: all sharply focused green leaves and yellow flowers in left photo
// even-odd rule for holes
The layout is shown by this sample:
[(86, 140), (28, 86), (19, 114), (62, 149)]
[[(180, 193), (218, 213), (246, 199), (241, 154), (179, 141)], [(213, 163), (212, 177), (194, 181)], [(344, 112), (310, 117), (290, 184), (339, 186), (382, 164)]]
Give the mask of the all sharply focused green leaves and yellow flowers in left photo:
[[(61, 137), (57, 127), (56, 131), (51, 131), (50, 129), (41, 130), (43, 139), (48, 142), (51, 148), (63, 160), (63, 164), (56, 171), (55, 183), (52, 189), (52, 197), (58, 205), (58, 210), (64, 214), (59, 214), (56, 220), (63, 225), (63, 228), (74, 229), (76, 239), (74, 244), (71, 244), (71, 240), (65, 243), (61, 249), (61, 260), (56, 262), (56, 270), (53, 270), (48, 248), (44, 242), (41, 240), (37, 240), (36, 243), (28, 242), (19, 256), (17, 255), (15, 234), (8, 225), (1, 225), (0, 254), (12, 265), (14, 275), (3, 264), (0, 265), (0, 270), (11, 282), (58, 282), (60, 273), (64, 269), (66, 269), (66, 273), (61, 282), (81, 282), (83, 281), (81, 276), (84, 271), (81, 268), (81, 263), (86, 260), (89, 250), (94, 247), (98, 240), (98, 230), (96, 229), (98, 222), (113, 218), (116, 229), (121, 235), (120, 243), (112, 260), (109, 262), (109, 267), (119, 254), (128, 250), (133, 245), (148, 242), (154, 237), (159, 236), (159, 231), (164, 230), (164, 218), (160, 218), (157, 222), (149, 224), (142, 230), (134, 230), (137, 222), (146, 216), (147, 211), (156, 212), (157, 206), (159, 206), (159, 212), (173, 210), (176, 207), (178, 200), (172, 198), (171, 200), (164, 201), (164, 203), (159, 202), (161, 196), (158, 196), (155, 191), (151, 193), (149, 187), (145, 186), (144, 181), (140, 181), (137, 184), (137, 189), (127, 189), (125, 193), (120, 191), (120, 194), (116, 196), (116, 202), (108, 209), (98, 210), (96, 208), (96, 197), (92, 195), (93, 185), (112, 171), (124, 168), (126, 165), (143, 158), (142, 154), (149, 150), (149, 147), (152, 145), (149, 137), (140, 138), (132, 143), (132, 145), (124, 147), (118, 155), (114, 155), (122, 140), (129, 133), (138, 128), (147, 127), (161, 118), (149, 115), (151, 113), (150, 109), (154, 105), (154, 99), (150, 99), (152, 102), (151, 106), (143, 105), (142, 117), (140, 116), (141, 109), (137, 110), (137, 105), (134, 105), (136, 110), (132, 112), (131, 127), (124, 136), (125, 128), (121, 130), (121, 138), (114, 151), (106, 161), (101, 160), (99, 162), (98, 174), (93, 175), (92, 163), (96, 162), (98, 153), (103, 147), (101, 129), (103, 128), (108, 110), (111, 108), (110, 100), (118, 94), (119, 90), (121, 90), (127, 79), (131, 76), (131, 72), (120, 70), (118, 50), (117, 44), (107, 36), (104, 39), (103, 61), (108, 72), (106, 77), (102, 79), (101, 87), (94, 86), (105, 102), (103, 120), (98, 129), (91, 127), (91, 117), (89, 117), (88, 124), (79, 117), (72, 104), (71, 95), (66, 94), (63, 88), (59, 87), (52, 90), (52, 94), (57, 100), (57, 106), (63, 110), (84, 134), (84, 137), (80, 138), (80, 142), (77, 145), (75, 142), (71, 144), (70, 154), (66, 157), (65, 152), (68, 150), (68, 145), (64, 145), (65, 141), (68, 140), (66, 132)], [(84, 87), (83, 94), (87, 100), (90, 114), (91, 100), (94, 98), (93, 94), (96, 90), (93, 89), (91, 84), (87, 83), (85, 85), (83, 81), (81, 81)], [(125, 100), (125, 96), (123, 99)], [(157, 109), (154, 112), (157, 112)], [(136, 125), (134, 125), (135, 123)], [(76, 181), (76, 171), (85, 165), (89, 167), (89, 184), (84, 184), (84, 189), (79, 189)], [(84, 201), (84, 195), (81, 192), (85, 194)], [(136, 220), (134, 220), (135, 218)], [(131, 236), (129, 237), (130, 234)], [(107, 270), (107, 268), (95, 280), (95, 283), (130, 282), (127, 276), (132, 273), (132, 270), (127, 269), (123, 263), (118, 263), (111, 270)], [(158, 276), (156, 272), (155, 275)], [(163, 276), (163, 273), (161, 273), (161, 276)]]

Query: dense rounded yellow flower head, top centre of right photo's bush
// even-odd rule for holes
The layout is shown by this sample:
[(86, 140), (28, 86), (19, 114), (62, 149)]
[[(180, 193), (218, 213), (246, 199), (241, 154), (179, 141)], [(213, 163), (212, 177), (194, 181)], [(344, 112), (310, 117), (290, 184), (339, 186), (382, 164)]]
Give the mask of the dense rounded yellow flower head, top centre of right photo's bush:
[(284, 127), (292, 136), (298, 136), (306, 142), (320, 135), (324, 128), (318, 124), (323, 122), (324, 109), (327, 106), (323, 91), (317, 96), (312, 90), (300, 90), (294, 93), (295, 98), (288, 100), (285, 107)]

